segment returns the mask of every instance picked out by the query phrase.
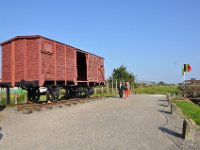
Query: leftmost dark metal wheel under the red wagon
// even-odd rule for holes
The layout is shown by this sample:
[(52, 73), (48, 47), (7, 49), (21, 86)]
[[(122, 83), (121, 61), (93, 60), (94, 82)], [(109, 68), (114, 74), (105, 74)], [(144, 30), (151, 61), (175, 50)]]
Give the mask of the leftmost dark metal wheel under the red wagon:
[(32, 102), (37, 102), (40, 99), (40, 91), (39, 88), (28, 88), (28, 99)]

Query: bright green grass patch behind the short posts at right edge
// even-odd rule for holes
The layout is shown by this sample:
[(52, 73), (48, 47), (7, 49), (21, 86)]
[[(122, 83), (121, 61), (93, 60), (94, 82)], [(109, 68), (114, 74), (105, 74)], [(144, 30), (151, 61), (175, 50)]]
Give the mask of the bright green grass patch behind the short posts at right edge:
[(173, 101), (178, 107), (181, 108), (183, 114), (200, 125), (200, 107), (190, 101)]

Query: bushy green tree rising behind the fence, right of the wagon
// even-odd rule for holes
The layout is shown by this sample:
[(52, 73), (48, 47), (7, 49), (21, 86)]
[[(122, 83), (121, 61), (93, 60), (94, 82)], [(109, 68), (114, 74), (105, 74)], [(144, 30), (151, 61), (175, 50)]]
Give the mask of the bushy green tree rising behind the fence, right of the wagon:
[(122, 80), (122, 81), (131, 81), (136, 80), (136, 76), (133, 73), (130, 73), (126, 70), (125, 66), (120, 66), (119, 68), (113, 69), (112, 75), (109, 80)]

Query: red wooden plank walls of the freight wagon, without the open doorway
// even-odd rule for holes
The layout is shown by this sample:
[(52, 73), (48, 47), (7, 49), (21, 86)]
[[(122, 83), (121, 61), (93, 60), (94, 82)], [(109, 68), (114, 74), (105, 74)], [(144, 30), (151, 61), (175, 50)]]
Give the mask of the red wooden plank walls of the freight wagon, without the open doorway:
[[(1, 43), (2, 82), (12, 86), (21, 80), (63, 82), (104, 82), (104, 59), (72, 46), (42, 37), (18, 36)], [(77, 51), (86, 57), (87, 80), (77, 81)], [(100, 67), (103, 66), (103, 67)]]

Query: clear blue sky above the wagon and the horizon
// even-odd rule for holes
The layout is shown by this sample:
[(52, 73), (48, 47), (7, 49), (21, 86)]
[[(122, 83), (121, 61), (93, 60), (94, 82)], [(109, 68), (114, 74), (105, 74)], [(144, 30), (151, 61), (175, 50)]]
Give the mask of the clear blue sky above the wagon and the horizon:
[(138, 81), (200, 79), (199, 0), (1, 0), (0, 42), (41, 35), (121, 65)]

